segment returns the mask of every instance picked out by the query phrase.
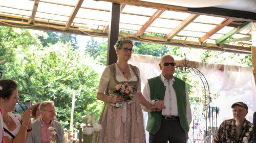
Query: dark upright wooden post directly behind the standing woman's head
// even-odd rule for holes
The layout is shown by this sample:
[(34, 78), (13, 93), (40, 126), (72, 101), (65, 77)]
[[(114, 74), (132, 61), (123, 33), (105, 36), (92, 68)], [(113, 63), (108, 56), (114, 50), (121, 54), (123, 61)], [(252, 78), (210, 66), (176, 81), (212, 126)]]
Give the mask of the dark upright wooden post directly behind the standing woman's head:
[(106, 57), (106, 65), (111, 65), (117, 62), (117, 55), (114, 45), (119, 36), (119, 21), (120, 21), (120, 4), (112, 4), (111, 20), (108, 41), (108, 54)]

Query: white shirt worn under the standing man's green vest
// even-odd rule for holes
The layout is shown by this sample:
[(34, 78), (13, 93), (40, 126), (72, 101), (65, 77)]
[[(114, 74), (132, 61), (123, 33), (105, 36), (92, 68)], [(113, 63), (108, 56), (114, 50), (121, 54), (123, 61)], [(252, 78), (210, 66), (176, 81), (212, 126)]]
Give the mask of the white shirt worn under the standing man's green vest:
[[(179, 116), (177, 97), (176, 97), (176, 93), (175, 93), (175, 90), (173, 87), (175, 79), (172, 78), (172, 79), (168, 80), (161, 74), (161, 80), (163, 81), (163, 84), (166, 87), (164, 100), (163, 100), (166, 108), (162, 109), (162, 115), (164, 115), (164, 116)], [(189, 104), (187, 87), (185, 87), (185, 93), (186, 93), (186, 103), (187, 103), (186, 104), (186, 107), (187, 107), (186, 117), (187, 117), (187, 123), (189, 126), (192, 121), (192, 117), (191, 117), (191, 109), (190, 109), (190, 104)], [(151, 100), (150, 86), (148, 85), (148, 82), (146, 82), (146, 84), (145, 84), (145, 87), (143, 90), (143, 96), (152, 105), (155, 104), (156, 100)], [(146, 112), (151, 111), (150, 109), (146, 108), (145, 106), (142, 106), (142, 109)]]

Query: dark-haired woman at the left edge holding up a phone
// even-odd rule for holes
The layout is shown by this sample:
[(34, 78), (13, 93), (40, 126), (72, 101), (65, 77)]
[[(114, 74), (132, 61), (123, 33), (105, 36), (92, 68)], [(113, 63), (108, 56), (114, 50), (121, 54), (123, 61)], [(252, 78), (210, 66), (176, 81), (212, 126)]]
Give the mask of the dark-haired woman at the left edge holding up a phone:
[(4, 120), (4, 141), (25, 143), (32, 130), (30, 106), (22, 116), (14, 115), (12, 111), (18, 103), (18, 86), (15, 81), (10, 79), (0, 80), (0, 107)]

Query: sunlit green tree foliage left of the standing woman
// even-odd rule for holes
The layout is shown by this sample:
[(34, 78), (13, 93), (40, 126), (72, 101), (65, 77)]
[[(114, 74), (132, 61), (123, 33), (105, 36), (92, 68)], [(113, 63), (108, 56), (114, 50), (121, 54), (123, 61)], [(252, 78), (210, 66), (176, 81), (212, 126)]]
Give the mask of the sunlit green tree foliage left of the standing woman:
[[(86, 112), (98, 118), (102, 102), (96, 99), (98, 74), (91, 68), (93, 60), (71, 43), (57, 42), (43, 47), (28, 30), (0, 27), (3, 78), (19, 85), (19, 101), (55, 102), (57, 120), (69, 127), (72, 95), (75, 94), (74, 123), (82, 123)], [(11, 41), (10, 41), (11, 40)], [(38, 43), (39, 41), (39, 43)]]

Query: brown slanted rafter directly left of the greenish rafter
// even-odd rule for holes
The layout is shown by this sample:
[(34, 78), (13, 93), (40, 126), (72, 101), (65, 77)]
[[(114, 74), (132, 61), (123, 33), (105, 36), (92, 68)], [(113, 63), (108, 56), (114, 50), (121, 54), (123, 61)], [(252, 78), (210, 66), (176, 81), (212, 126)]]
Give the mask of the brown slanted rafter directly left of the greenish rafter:
[(223, 27), (227, 26), (228, 24), (232, 23), (233, 21), (234, 21), (233, 19), (224, 19), (219, 25), (217, 25), (215, 28), (213, 28), (211, 31), (209, 31), (203, 37), (201, 37), (200, 42), (204, 42), (206, 39), (208, 39), (212, 35), (216, 34)]

